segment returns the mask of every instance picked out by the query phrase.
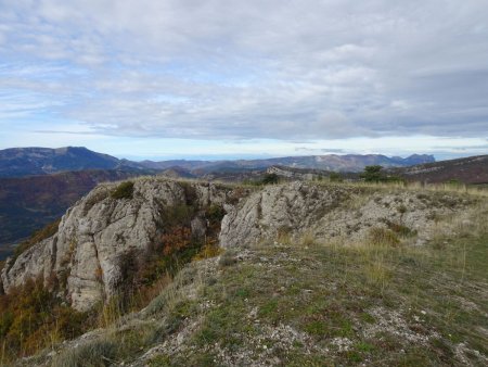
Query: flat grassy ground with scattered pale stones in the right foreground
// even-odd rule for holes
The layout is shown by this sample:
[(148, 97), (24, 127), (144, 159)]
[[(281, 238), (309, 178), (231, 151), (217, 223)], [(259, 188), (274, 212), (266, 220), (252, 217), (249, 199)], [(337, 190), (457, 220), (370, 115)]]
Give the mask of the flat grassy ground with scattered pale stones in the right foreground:
[(190, 343), (197, 352), (167, 360), (483, 365), (488, 237), (470, 241), (465, 263), (465, 243), (451, 245), (459, 262), (435, 249), (256, 249), (206, 290), (218, 306)]

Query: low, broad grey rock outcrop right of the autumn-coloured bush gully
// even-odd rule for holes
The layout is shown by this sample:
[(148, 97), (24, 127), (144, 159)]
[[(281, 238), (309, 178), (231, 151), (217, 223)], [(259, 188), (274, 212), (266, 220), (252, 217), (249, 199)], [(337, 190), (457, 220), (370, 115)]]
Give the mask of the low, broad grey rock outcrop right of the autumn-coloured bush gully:
[(278, 240), (280, 233), (294, 241), (309, 236), (319, 242), (361, 242), (374, 227), (408, 230), (413, 244), (421, 244), (432, 236), (436, 217), (459, 213), (466, 205), (445, 194), (367, 194), (347, 187), (304, 182), (272, 186), (237, 206), (226, 207), (220, 244), (233, 248)]

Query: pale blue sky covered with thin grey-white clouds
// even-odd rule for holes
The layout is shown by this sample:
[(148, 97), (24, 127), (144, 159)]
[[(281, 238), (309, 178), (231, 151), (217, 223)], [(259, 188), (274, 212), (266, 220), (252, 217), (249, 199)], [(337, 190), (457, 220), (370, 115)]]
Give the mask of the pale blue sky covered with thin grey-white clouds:
[(0, 149), (488, 154), (486, 0), (0, 0)]

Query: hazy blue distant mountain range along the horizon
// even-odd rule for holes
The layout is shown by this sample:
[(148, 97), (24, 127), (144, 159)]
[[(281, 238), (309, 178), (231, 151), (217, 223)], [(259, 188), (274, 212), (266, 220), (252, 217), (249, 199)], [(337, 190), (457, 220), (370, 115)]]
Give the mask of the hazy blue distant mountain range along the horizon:
[(306, 155), (261, 160), (221, 161), (142, 161), (119, 160), (115, 156), (93, 152), (82, 147), (12, 148), (0, 150), (0, 177), (49, 175), (60, 172), (85, 169), (183, 169), (189, 176), (200, 177), (211, 172), (242, 169), (266, 169), (271, 166), (290, 166), (335, 172), (361, 172), (368, 165), (406, 167), (435, 162), (433, 155), (413, 154), (406, 159), (382, 154)]

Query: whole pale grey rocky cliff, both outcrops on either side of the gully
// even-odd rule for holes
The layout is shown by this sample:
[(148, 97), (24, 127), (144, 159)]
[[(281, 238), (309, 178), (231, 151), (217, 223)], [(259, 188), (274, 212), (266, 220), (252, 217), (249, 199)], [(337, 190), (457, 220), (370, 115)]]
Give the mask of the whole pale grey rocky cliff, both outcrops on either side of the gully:
[[(192, 233), (205, 236), (202, 213), (222, 206), (220, 245), (235, 248), (261, 239), (277, 241), (361, 241), (372, 229), (421, 244), (433, 236), (439, 216), (460, 212), (468, 199), (447, 193), (374, 191), (305, 182), (248, 189), (216, 184), (137, 179), (130, 198), (114, 198), (116, 184), (97, 187), (63, 216), (59, 231), (37, 243), (1, 274), (5, 292), (28, 278), (55, 279), (77, 309), (88, 309), (115, 294), (124, 282), (125, 255), (140, 256), (171, 220), (169, 207), (192, 205)], [(377, 232), (383, 236), (383, 232)], [(376, 233), (376, 235), (377, 235)], [(383, 233), (383, 235), (382, 235)]]

